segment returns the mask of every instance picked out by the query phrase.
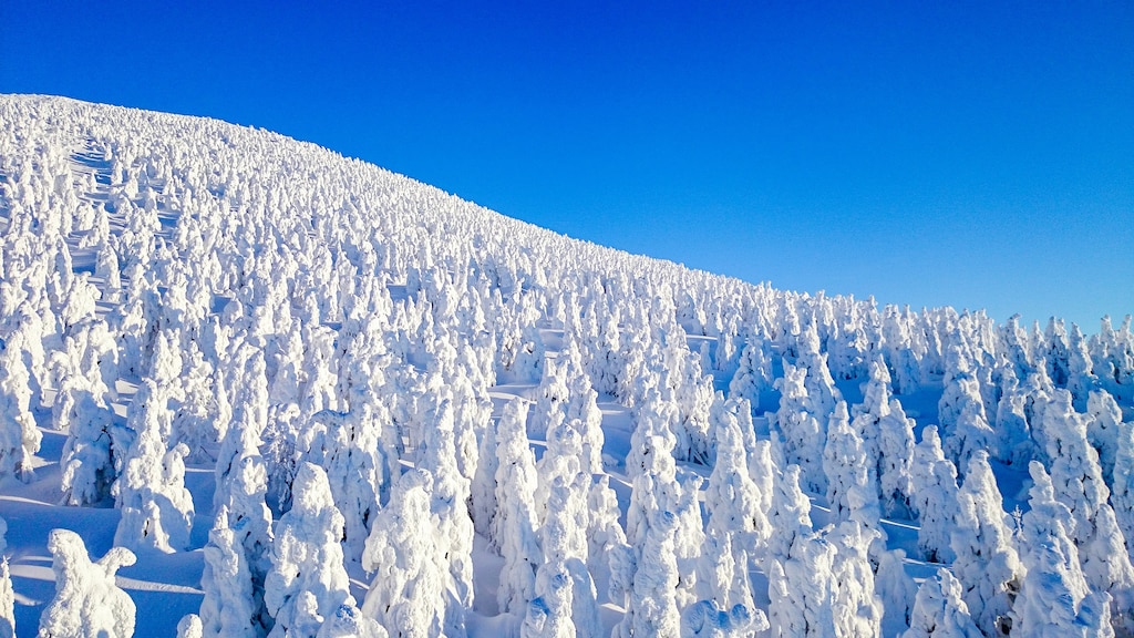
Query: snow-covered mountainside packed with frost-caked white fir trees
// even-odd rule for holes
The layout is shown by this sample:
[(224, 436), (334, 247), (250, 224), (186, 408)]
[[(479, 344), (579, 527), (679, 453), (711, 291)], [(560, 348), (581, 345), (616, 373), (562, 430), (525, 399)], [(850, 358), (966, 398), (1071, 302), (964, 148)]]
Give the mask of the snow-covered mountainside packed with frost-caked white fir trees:
[(0, 638), (1134, 631), (1129, 318), (777, 291), (209, 119), (0, 124)]

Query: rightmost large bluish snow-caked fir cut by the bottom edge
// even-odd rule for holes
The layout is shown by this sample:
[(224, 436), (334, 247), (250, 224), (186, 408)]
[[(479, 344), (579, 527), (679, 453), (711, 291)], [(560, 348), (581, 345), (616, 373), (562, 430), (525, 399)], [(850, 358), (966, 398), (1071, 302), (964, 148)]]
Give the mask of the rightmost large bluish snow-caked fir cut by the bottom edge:
[(1026, 570), (1012, 612), (1012, 631), (1021, 636), (1114, 636), (1110, 595), (1091, 591), (1072, 540), (1075, 519), (1056, 501), (1043, 465), (1029, 465), (1033, 486), (1024, 514), (1021, 547)]

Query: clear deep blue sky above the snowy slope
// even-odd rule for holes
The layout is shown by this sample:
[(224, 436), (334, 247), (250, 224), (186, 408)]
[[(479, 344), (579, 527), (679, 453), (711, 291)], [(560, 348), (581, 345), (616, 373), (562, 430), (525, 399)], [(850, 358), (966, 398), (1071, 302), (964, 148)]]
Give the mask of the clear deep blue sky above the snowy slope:
[(270, 128), (782, 288), (1134, 312), (1129, 2), (166, 5), (0, 0), (0, 92)]

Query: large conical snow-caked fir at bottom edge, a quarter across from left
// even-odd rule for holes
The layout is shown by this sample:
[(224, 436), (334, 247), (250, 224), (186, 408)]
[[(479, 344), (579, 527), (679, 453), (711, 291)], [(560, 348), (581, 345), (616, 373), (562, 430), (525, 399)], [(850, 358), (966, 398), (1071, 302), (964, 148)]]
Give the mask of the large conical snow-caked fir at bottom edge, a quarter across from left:
[[(354, 604), (339, 544), (344, 524), (325, 472), (311, 463), (301, 465), (291, 485), (291, 509), (276, 526), (272, 568), (264, 579), (264, 604), (276, 619), (270, 636), (311, 636), (318, 631), (313, 621)], [(303, 593), (314, 597), (313, 610), (301, 605)]]

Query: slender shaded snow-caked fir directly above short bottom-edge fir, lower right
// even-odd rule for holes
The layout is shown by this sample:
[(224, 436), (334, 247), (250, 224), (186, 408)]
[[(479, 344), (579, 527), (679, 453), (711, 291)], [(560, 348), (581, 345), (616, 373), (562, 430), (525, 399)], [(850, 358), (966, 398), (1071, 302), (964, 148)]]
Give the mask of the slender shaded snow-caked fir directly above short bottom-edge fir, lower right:
[(922, 430), (911, 467), (917, 510), (917, 548), (929, 561), (953, 562), (950, 531), (957, 512), (957, 469), (945, 457), (936, 426)]

